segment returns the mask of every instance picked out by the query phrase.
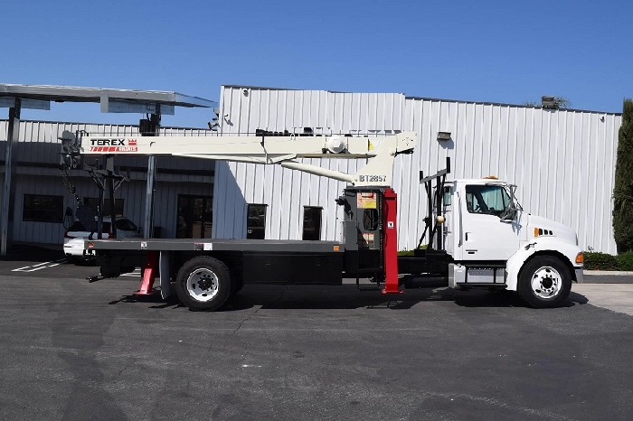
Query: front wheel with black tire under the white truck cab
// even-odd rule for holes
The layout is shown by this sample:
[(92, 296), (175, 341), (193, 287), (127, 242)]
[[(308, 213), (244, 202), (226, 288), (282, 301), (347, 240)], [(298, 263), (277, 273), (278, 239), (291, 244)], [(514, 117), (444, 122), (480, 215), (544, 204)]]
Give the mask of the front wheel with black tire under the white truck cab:
[(534, 257), (523, 268), (518, 286), (519, 294), (531, 307), (556, 307), (570, 295), (572, 274), (557, 257)]

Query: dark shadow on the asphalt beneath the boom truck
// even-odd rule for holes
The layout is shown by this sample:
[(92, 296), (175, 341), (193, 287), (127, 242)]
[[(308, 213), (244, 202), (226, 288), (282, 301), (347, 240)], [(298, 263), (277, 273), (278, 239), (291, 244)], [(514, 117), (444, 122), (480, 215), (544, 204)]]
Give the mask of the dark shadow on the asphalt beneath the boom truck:
[[(416, 288), (398, 295), (383, 295), (380, 291), (358, 291), (355, 285), (300, 286), (300, 285), (246, 285), (220, 310), (239, 312), (254, 307), (262, 309), (390, 309), (408, 310), (414, 305), (433, 302), (453, 302), (460, 307), (518, 307), (528, 308), (518, 295), (508, 291), (455, 291), (448, 287)], [(561, 307), (587, 304), (584, 295), (571, 293)], [(109, 304), (146, 303), (150, 308), (184, 308), (175, 295), (163, 300), (160, 293), (137, 296), (123, 295)]]

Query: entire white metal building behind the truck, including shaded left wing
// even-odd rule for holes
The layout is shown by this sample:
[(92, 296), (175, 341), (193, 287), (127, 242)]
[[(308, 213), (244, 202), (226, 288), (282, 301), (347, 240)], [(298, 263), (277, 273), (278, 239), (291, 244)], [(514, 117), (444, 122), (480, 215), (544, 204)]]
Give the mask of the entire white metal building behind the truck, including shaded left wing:
[[(618, 114), (403, 94), (242, 86), (222, 87), (219, 114), (218, 134), (254, 134), (257, 129), (303, 133), (306, 127), (315, 134), (373, 136), (416, 131), (419, 143), (415, 153), (399, 156), (393, 174), (393, 187), (399, 194), (401, 249), (414, 248), (424, 227), (426, 202), (418, 182), (420, 170), (435, 173), (444, 168), (449, 156), (451, 176), (496, 175), (514, 182), (526, 211), (576, 229), (582, 248), (616, 252), (611, 192), (621, 125)], [(6, 130), (6, 121), (0, 120), (0, 144), (6, 140)], [(57, 169), (57, 139), (63, 130), (127, 136), (138, 133), (136, 126), (21, 121), (15, 151), (14, 241), (62, 242), (63, 215), (66, 208), (74, 206)], [(449, 132), (450, 139), (439, 141), (438, 132)], [(165, 128), (163, 133), (186, 136), (212, 132)], [(3, 154), (4, 147), (0, 147), (0, 182)], [(362, 164), (354, 160), (306, 161), (345, 173), (354, 173)], [(145, 212), (146, 158), (120, 158), (117, 164), (130, 169), (131, 174), (131, 181), (117, 192), (120, 213), (138, 223)], [(90, 178), (80, 171), (71, 173), (71, 181), (81, 198), (90, 200), (98, 195)], [(161, 237), (175, 238), (184, 234), (178, 230), (179, 217), (188, 215), (187, 235), (241, 239), (258, 228), (247, 229), (247, 221), (252, 211), (259, 211), (265, 212), (265, 219), (260, 218), (265, 220), (260, 234), (266, 239), (302, 239), (308, 230), (309, 213), (312, 222), (318, 218), (317, 238), (340, 239), (335, 198), (343, 188), (343, 182), (277, 165), (159, 158), (155, 224), (161, 228)], [(52, 214), (33, 209), (33, 203), (40, 201), (53, 203)], [(311, 228), (314, 234), (314, 225)]]

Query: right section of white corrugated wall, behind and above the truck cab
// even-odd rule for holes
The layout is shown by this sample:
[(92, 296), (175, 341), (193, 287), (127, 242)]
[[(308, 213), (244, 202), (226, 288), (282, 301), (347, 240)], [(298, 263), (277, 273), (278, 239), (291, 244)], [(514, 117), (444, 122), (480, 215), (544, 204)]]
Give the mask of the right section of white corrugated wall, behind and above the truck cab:
[[(449, 155), (453, 178), (513, 182), (526, 211), (572, 227), (582, 248), (616, 252), (611, 192), (621, 116), (408, 98), (407, 117), (420, 134), (412, 156), (419, 169), (434, 172)], [(451, 133), (448, 145), (438, 131)], [(401, 174), (399, 191), (413, 197), (417, 188)]]

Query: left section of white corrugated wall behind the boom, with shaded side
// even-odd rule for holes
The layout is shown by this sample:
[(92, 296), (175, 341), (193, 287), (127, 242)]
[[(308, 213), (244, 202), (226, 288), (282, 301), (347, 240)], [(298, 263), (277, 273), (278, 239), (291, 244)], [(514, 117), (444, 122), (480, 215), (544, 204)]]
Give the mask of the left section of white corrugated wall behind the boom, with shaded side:
[[(221, 115), (228, 115), (221, 134), (254, 134), (271, 131), (316, 133), (374, 133), (402, 126), (402, 94), (349, 94), (284, 89), (222, 88)], [(355, 173), (362, 163), (354, 160), (305, 159), (301, 162)], [(213, 201), (213, 237), (243, 238), (248, 203), (269, 205), (267, 239), (301, 239), (303, 207), (323, 208), (321, 239), (340, 239), (335, 199), (344, 182), (301, 173), (279, 165), (218, 164)]]

